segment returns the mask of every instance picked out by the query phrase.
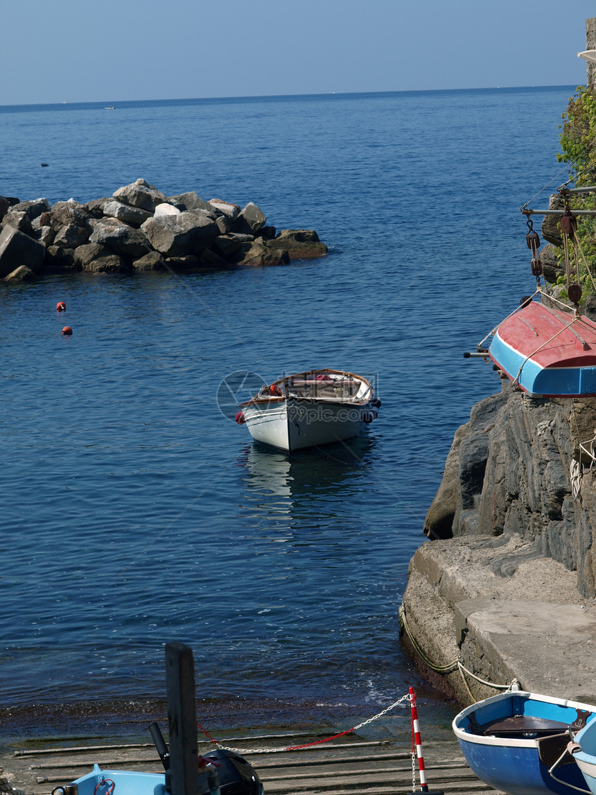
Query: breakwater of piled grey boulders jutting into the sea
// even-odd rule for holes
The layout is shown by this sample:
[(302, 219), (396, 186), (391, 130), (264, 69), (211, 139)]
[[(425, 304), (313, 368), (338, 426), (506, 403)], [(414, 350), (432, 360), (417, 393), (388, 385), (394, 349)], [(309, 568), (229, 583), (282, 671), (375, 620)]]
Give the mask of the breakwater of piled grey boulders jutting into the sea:
[(241, 208), (219, 199), (204, 201), (195, 192), (164, 196), (145, 180), (87, 204), (0, 196), (0, 222), (0, 279), (5, 281), (73, 271), (286, 265), (327, 254), (315, 231), (277, 232), (252, 202)]

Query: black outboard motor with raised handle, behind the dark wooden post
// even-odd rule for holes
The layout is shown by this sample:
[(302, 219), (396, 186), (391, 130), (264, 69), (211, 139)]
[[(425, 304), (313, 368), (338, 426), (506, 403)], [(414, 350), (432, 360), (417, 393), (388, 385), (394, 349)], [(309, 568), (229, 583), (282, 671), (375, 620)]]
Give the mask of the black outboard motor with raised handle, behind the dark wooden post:
[[(149, 731), (164, 766), (167, 788), (170, 772), (168, 746), (157, 723), (152, 723)], [(220, 795), (263, 795), (265, 791), (254, 768), (233, 750), (216, 748), (201, 757), (199, 761), (207, 762), (210, 768), (207, 775), (201, 773), (200, 768), (197, 770), (199, 795), (210, 795), (214, 792)]]

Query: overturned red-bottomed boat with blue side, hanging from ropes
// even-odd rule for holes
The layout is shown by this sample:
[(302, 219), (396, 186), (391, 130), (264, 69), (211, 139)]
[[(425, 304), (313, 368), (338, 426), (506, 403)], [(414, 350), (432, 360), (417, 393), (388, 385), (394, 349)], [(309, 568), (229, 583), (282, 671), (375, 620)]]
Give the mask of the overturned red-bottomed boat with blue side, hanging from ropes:
[(596, 395), (596, 324), (530, 301), (497, 328), (489, 355), (530, 397)]

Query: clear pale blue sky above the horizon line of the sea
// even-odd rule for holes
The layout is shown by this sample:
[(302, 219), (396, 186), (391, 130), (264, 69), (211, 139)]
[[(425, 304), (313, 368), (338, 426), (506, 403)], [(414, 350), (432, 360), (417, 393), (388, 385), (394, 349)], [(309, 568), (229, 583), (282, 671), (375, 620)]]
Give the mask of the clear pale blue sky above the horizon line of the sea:
[(579, 85), (594, 0), (0, 0), (0, 105)]

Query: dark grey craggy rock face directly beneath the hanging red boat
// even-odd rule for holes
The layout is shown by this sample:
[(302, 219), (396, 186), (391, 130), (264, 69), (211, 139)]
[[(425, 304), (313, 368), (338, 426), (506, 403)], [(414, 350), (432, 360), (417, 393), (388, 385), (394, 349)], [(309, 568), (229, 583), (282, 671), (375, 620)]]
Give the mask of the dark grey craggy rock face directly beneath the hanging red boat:
[[(579, 593), (594, 597), (596, 481), (579, 446), (590, 448), (594, 429), (596, 398), (532, 400), (503, 382), (455, 433), (424, 533), (515, 533), (576, 572)], [(572, 481), (581, 483), (576, 496)]]

